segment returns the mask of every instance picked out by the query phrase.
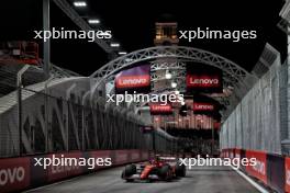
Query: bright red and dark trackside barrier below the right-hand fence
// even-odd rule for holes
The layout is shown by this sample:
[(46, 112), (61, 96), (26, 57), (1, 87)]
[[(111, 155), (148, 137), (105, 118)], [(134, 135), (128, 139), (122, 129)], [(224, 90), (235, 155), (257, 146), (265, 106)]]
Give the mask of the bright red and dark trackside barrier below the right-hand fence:
[(241, 167), (248, 175), (279, 193), (290, 193), (290, 158), (247, 149), (223, 149), (222, 158), (256, 158), (256, 166)]

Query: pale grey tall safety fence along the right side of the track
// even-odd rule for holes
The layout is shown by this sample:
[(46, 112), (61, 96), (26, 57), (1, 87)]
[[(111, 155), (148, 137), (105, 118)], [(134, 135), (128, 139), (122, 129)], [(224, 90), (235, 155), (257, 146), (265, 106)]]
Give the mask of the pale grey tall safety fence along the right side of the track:
[(224, 120), (221, 149), (256, 149), (290, 156), (290, 146), (283, 143), (289, 139), (289, 65), (281, 65), (278, 56), (268, 64), (265, 73)]

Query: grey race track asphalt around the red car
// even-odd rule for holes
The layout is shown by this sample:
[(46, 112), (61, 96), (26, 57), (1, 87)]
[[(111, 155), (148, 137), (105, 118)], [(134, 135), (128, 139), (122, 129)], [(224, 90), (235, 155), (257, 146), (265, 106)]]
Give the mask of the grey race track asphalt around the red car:
[(37, 193), (256, 193), (252, 184), (226, 167), (199, 167), (171, 182), (125, 182), (123, 167), (98, 171), (29, 192)]

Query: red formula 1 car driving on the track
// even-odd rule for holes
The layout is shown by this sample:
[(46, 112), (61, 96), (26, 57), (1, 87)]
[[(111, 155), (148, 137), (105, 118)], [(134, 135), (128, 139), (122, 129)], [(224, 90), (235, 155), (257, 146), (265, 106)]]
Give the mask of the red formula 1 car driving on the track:
[(134, 180), (170, 181), (181, 177), (186, 177), (186, 167), (180, 166), (178, 159), (174, 157), (156, 157), (149, 162), (127, 164), (122, 171), (122, 179), (127, 182)]

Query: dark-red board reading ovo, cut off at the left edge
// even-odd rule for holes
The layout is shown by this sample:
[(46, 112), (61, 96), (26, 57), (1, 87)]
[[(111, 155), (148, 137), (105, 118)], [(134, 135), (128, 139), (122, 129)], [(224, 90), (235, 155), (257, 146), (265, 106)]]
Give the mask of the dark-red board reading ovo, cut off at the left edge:
[(0, 192), (25, 189), (30, 178), (30, 158), (0, 159)]

